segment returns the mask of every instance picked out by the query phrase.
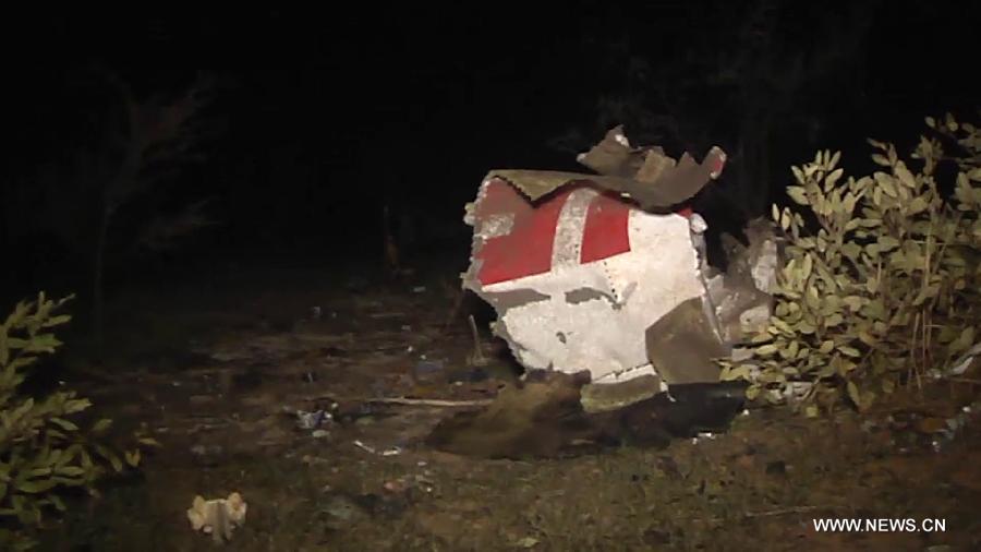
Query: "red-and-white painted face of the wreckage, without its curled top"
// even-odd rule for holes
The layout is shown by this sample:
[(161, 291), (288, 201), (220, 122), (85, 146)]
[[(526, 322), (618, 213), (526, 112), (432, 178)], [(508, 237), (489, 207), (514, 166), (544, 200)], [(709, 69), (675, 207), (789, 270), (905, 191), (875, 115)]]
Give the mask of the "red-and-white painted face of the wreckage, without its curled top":
[(473, 209), (464, 286), (530, 369), (618, 381), (655, 373), (646, 329), (705, 288), (685, 214), (657, 215), (581, 185), (533, 207), (492, 179)]

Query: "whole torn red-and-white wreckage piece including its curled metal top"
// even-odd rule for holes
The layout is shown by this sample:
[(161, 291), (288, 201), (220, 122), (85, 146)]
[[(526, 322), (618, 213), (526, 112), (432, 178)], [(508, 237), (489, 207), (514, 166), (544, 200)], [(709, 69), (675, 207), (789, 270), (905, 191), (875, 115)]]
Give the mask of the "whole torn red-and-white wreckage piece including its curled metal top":
[(719, 176), (725, 153), (676, 163), (616, 128), (579, 160), (602, 176), (487, 175), (464, 217), (464, 287), (495, 308), (496, 334), (528, 369), (717, 381), (711, 358), (727, 351), (702, 274), (705, 221), (680, 205)]

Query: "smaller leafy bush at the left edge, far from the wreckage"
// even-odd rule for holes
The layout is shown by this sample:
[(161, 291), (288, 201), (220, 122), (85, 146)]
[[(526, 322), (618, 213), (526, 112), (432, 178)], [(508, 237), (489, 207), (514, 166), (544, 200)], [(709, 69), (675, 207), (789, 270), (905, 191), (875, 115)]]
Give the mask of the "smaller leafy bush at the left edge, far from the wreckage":
[[(28, 370), (62, 345), (53, 328), (71, 319), (56, 314), (69, 299), (22, 301), (0, 324), (0, 550), (27, 550), (43, 527), (45, 512), (66, 509), (64, 492), (95, 484), (124, 469), (120, 455), (106, 444), (111, 421), (99, 419), (88, 430), (78, 427), (92, 406), (72, 391), (27, 396)], [(145, 445), (152, 439), (137, 436)], [(125, 452), (125, 463), (140, 464), (140, 449)]]

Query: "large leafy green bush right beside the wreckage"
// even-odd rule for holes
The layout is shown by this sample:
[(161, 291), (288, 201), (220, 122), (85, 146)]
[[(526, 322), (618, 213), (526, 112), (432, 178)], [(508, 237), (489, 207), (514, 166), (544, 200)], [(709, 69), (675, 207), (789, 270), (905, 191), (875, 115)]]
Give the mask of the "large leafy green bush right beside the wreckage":
[[(843, 397), (860, 410), (898, 385), (922, 385), (978, 339), (981, 320), (981, 131), (927, 119), (907, 163), (870, 140), (871, 176), (847, 177), (840, 153), (794, 167), (794, 208), (773, 206), (787, 232), (774, 315), (750, 359), (725, 362), (751, 397), (797, 399), (809, 416)], [(938, 166), (953, 161), (953, 196)]]

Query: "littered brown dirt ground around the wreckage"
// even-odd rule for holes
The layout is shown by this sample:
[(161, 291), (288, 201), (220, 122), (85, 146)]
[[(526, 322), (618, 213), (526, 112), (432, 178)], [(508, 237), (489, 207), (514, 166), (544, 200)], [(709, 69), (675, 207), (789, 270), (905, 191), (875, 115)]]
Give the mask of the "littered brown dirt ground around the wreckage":
[[(486, 400), (514, 384), (513, 362), (486, 332), (489, 362), (473, 362), (467, 309), (447, 324), (459, 271), (363, 269), (227, 266), (120, 291), (111, 353), (102, 367), (69, 353), (69, 373), (87, 374), (71, 383), (164, 446), (43, 549), (215, 550), (185, 512), (232, 491), (249, 509), (225, 547), (242, 552), (981, 549), (981, 420), (965, 410), (977, 372), (868, 417), (751, 408), (726, 433), (666, 446), (448, 454), (426, 435), (476, 407), (376, 399)], [(334, 418), (302, 429), (298, 410)], [(822, 518), (916, 527), (819, 532)]]

